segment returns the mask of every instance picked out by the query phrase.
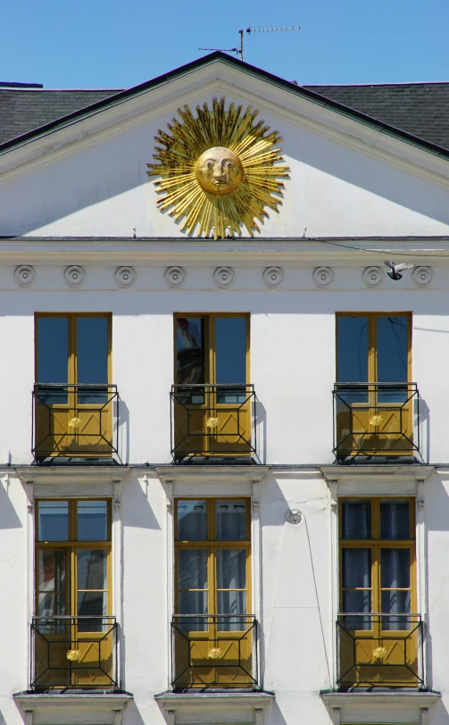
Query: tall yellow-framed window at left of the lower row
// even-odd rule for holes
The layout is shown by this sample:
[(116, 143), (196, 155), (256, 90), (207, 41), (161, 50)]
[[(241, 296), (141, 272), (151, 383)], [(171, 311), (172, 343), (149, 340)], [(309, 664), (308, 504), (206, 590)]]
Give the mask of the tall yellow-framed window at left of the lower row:
[(35, 687), (111, 681), (111, 529), (110, 499), (37, 501)]

